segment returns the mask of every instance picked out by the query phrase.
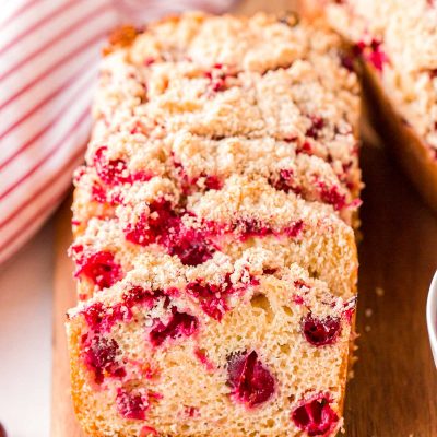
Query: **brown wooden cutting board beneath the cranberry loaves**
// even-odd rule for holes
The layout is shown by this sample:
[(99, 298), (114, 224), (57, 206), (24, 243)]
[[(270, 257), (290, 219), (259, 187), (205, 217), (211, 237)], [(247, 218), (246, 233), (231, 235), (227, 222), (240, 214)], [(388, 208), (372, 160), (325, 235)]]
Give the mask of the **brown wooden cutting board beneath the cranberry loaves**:
[[(290, 1), (245, 1), (243, 13), (286, 10)], [(375, 142), (374, 142), (375, 143)], [(366, 189), (359, 246), (358, 362), (347, 386), (347, 437), (437, 436), (437, 370), (425, 302), (437, 268), (437, 216), (423, 204), (383, 147), (364, 144)], [(58, 213), (54, 302), (52, 437), (84, 437), (69, 397), (63, 329), (75, 305), (69, 200)], [(228, 437), (228, 436), (224, 436)], [(229, 436), (232, 437), (232, 436)]]

